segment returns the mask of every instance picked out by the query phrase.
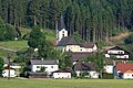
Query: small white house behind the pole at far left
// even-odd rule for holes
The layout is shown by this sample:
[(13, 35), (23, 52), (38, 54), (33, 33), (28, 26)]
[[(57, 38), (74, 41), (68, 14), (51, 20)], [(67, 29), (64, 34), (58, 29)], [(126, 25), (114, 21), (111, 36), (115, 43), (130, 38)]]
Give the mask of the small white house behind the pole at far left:
[[(4, 67), (2, 77), (9, 77), (9, 67)], [(17, 77), (16, 69), (10, 67), (10, 77)]]

